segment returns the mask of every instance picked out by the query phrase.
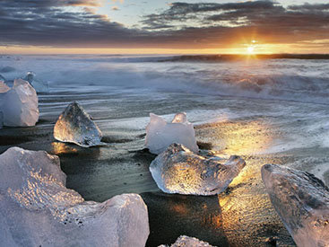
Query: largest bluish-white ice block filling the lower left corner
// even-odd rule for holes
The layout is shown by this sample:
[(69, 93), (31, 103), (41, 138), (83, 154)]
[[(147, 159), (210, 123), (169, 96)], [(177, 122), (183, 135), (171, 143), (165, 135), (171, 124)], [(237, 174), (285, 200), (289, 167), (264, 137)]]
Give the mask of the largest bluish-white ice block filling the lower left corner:
[(103, 203), (65, 187), (59, 158), (12, 147), (0, 155), (2, 246), (144, 246), (147, 207), (137, 194)]

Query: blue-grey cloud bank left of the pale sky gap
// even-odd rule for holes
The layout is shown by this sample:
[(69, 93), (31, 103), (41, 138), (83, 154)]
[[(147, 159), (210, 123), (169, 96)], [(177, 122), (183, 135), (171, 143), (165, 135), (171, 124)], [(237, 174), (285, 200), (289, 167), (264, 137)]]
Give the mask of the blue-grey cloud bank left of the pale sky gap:
[(107, 16), (83, 7), (96, 3), (91, 0), (2, 0), (0, 43), (104, 47), (126, 42), (132, 36), (136, 40), (143, 36), (142, 31), (128, 30), (122, 24), (110, 22)]

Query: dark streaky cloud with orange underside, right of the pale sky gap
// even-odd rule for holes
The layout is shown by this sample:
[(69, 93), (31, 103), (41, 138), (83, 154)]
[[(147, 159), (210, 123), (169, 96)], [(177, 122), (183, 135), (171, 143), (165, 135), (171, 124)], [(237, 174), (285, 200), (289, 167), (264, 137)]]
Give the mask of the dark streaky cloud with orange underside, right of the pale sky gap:
[[(173, 3), (169, 9), (144, 17), (144, 29), (158, 25), (184, 37), (224, 43), (234, 38), (259, 37), (267, 42), (289, 43), (329, 38), (329, 4), (303, 4), (284, 8), (273, 1), (229, 4)], [(183, 20), (184, 22), (181, 22)], [(187, 26), (191, 23), (193, 26)], [(221, 39), (221, 40), (220, 40)]]

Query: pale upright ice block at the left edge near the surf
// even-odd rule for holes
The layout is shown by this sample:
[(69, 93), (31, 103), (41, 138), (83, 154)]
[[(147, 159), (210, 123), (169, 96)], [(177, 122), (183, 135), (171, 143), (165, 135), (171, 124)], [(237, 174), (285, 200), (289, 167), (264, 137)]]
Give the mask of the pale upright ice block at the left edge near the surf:
[(2, 94), (1, 98), (0, 107), (4, 114), (5, 126), (34, 126), (36, 124), (39, 119), (38, 96), (27, 81), (14, 80), (13, 88)]

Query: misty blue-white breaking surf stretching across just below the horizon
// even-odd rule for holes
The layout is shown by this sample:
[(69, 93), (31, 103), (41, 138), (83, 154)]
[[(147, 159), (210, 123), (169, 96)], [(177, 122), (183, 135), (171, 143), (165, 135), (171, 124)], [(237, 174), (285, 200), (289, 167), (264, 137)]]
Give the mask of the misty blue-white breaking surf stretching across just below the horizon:
[[(158, 58), (152, 57), (154, 61)], [(110, 92), (111, 87), (117, 87), (134, 88), (134, 93), (156, 90), (329, 104), (329, 66), (325, 60), (173, 64), (134, 63), (132, 59), (149, 61), (150, 57), (22, 57), (12, 62), (6, 58), (0, 59), (0, 67), (13, 67), (5, 75), (11, 80), (33, 71), (58, 92)]]

